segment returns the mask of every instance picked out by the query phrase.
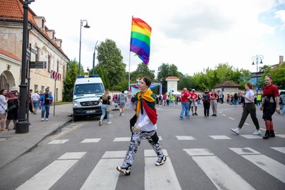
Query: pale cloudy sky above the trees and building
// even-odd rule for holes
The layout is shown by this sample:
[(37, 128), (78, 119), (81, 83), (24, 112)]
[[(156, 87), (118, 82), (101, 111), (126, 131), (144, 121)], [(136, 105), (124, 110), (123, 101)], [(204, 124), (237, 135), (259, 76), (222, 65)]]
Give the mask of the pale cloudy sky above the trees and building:
[[(84, 69), (92, 67), (96, 41), (110, 38), (122, 51), (128, 71), (132, 16), (152, 27), (152, 70), (170, 63), (192, 75), (229, 63), (255, 72), (252, 56), (263, 55), (266, 65), (285, 56), (285, 0), (36, 0), (30, 7), (63, 40), (71, 60), (79, 57), (80, 21), (88, 21), (90, 28), (82, 28)], [(130, 60), (133, 71), (141, 61), (133, 53)]]

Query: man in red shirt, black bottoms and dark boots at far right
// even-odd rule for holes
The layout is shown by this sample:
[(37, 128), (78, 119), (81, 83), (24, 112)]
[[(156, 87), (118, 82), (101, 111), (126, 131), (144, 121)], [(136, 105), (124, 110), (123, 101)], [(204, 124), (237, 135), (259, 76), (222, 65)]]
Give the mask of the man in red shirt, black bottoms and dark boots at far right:
[(272, 115), (274, 112), (280, 113), (279, 107), (279, 91), (276, 85), (272, 85), (272, 78), (266, 75), (264, 78), (265, 87), (263, 88), (263, 97), (260, 110), (263, 110), (262, 119), (264, 119), (266, 126), (266, 133), (263, 139), (275, 137), (273, 130)]

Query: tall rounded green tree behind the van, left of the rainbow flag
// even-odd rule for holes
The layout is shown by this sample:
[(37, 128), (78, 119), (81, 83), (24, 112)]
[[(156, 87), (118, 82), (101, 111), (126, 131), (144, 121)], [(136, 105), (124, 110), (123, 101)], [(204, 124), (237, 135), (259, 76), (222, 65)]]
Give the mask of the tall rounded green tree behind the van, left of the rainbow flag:
[[(98, 68), (104, 70), (105, 77), (110, 83), (110, 87), (120, 85), (125, 79), (125, 63), (120, 49), (115, 41), (106, 39), (98, 46)], [(105, 84), (104, 84), (105, 85)]]

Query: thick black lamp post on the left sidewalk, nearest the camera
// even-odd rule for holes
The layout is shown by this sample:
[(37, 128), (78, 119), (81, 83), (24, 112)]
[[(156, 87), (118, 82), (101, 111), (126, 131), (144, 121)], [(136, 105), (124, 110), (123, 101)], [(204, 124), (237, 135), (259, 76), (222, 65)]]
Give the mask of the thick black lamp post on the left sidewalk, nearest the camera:
[(27, 61), (31, 56), (31, 52), (28, 50), (28, 4), (31, 4), (32, 1), (33, 0), (26, 0), (24, 1), (23, 4), (24, 18), (23, 18), (21, 85), (19, 85), (20, 106), (19, 106), (19, 122), (16, 123), (16, 133), (27, 133), (29, 125), (29, 123), (26, 120), (26, 99), (27, 99), (26, 67), (27, 67)]

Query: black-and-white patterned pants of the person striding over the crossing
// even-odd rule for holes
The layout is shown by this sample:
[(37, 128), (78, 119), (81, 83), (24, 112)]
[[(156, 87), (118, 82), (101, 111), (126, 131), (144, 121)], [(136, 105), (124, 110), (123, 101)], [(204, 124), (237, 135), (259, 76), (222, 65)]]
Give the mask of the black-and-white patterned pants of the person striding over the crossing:
[(133, 161), (135, 159), (135, 154), (138, 151), (138, 147), (140, 147), (140, 142), (142, 139), (146, 139), (150, 145), (152, 146), (152, 149), (155, 150), (155, 153), (157, 154), (157, 157), (163, 157), (163, 152), (160, 147), (160, 143), (158, 142), (159, 137), (157, 136), (156, 131), (150, 131), (150, 132), (133, 132), (132, 137), (130, 139), (130, 147), (128, 149), (128, 152), (125, 156), (125, 161), (123, 163), (123, 166), (132, 165)]

